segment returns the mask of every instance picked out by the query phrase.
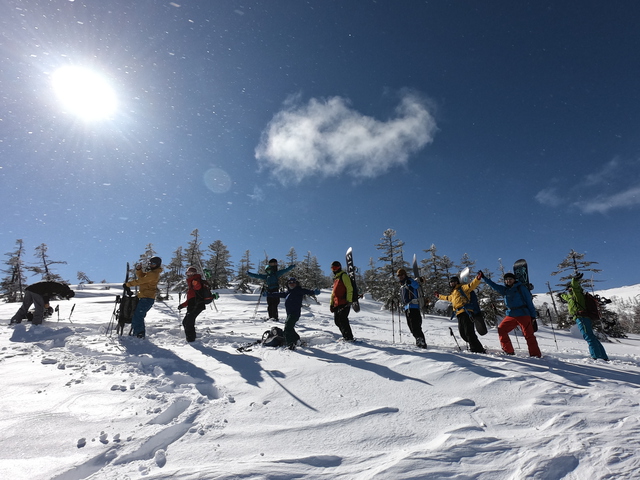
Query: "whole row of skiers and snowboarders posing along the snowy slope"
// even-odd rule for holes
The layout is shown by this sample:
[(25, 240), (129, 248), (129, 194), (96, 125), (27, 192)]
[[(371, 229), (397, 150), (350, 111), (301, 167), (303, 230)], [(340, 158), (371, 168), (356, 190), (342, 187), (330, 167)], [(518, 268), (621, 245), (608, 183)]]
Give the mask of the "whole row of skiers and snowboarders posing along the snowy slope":
[[(161, 265), (162, 259), (160, 257), (151, 258), (147, 269), (143, 269), (141, 265), (136, 265), (136, 279), (123, 284), (125, 292), (130, 292), (130, 287), (139, 287), (138, 303), (131, 321), (131, 335), (136, 337), (144, 338), (145, 336), (144, 319), (155, 302), (156, 289), (162, 273)], [(286, 275), (293, 268), (294, 265), (290, 265), (278, 270), (278, 261), (272, 258), (268, 262), (265, 274), (247, 272), (249, 277), (265, 282), (263, 294), (267, 297), (269, 318), (278, 319), (278, 304), (281, 298), (285, 298), (287, 319), (284, 328), (284, 343), (292, 349), (295, 348), (296, 343), (300, 340), (300, 336), (295, 331), (295, 325), (300, 319), (302, 299), (305, 295), (318, 295), (320, 293), (320, 290), (317, 289), (302, 288), (295, 277), (288, 279), (287, 292), (280, 292), (280, 277)], [(353, 298), (354, 288), (349, 275), (342, 270), (340, 262), (333, 262), (331, 271), (333, 273), (333, 287), (329, 300), (329, 309), (333, 313), (334, 322), (340, 330), (344, 341), (352, 342), (354, 336), (349, 323), (349, 313), (352, 302), (356, 300)], [(187, 309), (182, 325), (184, 326), (186, 340), (193, 342), (196, 339), (196, 318), (205, 309), (205, 303), (199, 296), (203, 282), (202, 276), (198, 273), (196, 267), (187, 268), (186, 277), (187, 296), (186, 300), (178, 306), (178, 309)], [(420, 348), (427, 348), (424, 332), (422, 331), (419, 279), (416, 280), (409, 277), (404, 268), (400, 268), (397, 271), (397, 278), (400, 283), (400, 294), (409, 330), (416, 340), (416, 345)], [(580, 333), (589, 346), (591, 357), (609, 360), (604, 347), (593, 332), (591, 318), (587, 315), (584, 292), (580, 285), (581, 278), (582, 274), (577, 274), (572, 279), (568, 292), (563, 294), (562, 298), (567, 302), (569, 314), (575, 318)], [(507, 355), (514, 355), (515, 352), (509, 333), (520, 327), (527, 342), (529, 355), (541, 357), (542, 353), (534, 334), (534, 322), (537, 312), (533, 305), (531, 292), (527, 286), (516, 279), (513, 273), (505, 273), (503, 279), (504, 285), (498, 285), (490, 278), (485, 277), (480, 271), (471, 282), (463, 284), (460, 283), (460, 279), (457, 276), (454, 276), (449, 279), (451, 293), (449, 295), (441, 295), (436, 292), (435, 296), (439, 300), (451, 302), (458, 319), (458, 331), (462, 339), (468, 343), (469, 350), (474, 353), (485, 353), (485, 348), (478, 339), (476, 327), (474, 326), (474, 312), (471, 302), (473, 290), (484, 280), (487, 285), (504, 298), (506, 316), (498, 325), (498, 338), (502, 350)], [(33, 324), (40, 324), (44, 318), (45, 309), (49, 307), (50, 297), (59, 296), (70, 299), (74, 295), (75, 293), (68, 285), (58, 282), (39, 282), (30, 285), (26, 288), (23, 303), (12, 317), (11, 323), (20, 323), (23, 318), (27, 317), (29, 307), (34, 304)], [(486, 327), (480, 333), (485, 334)]]

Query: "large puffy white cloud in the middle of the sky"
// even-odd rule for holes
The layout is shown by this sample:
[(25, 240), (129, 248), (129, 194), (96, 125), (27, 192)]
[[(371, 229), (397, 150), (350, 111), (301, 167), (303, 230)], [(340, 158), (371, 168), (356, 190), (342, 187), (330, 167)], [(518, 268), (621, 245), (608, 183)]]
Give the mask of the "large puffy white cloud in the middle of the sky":
[(263, 132), (256, 159), (284, 180), (344, 173), (370, 178), (405, 165), (436, 130), (426, 103), (413, 93), (403, 95), (387, 121), (353, 110), (341, 97), (302, 104), (295, 96)]

